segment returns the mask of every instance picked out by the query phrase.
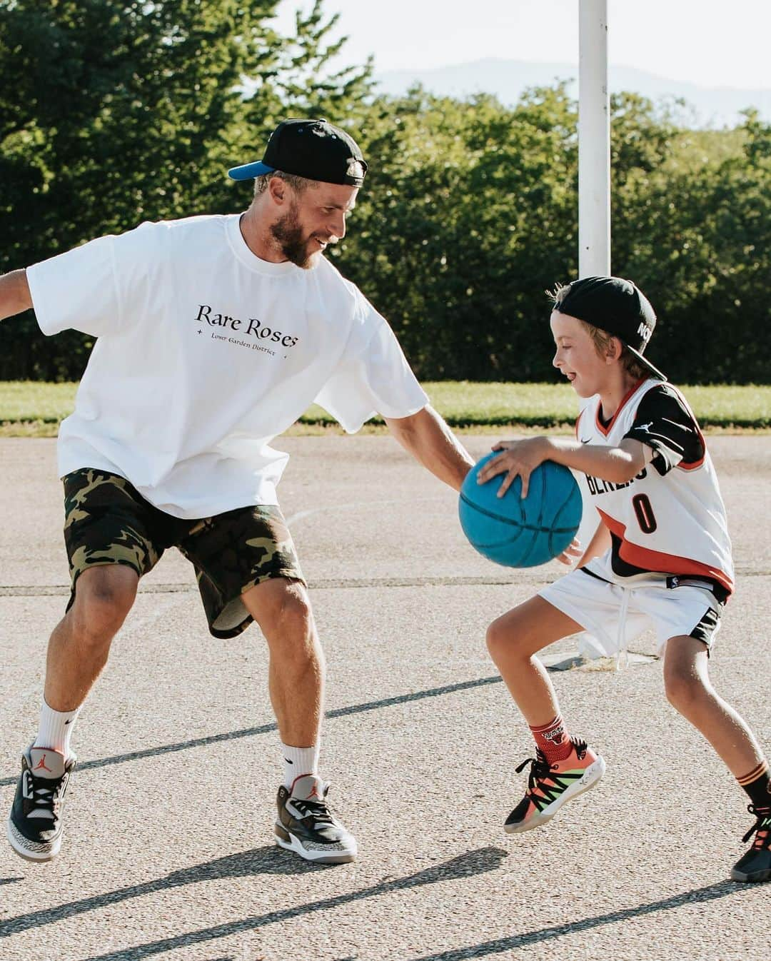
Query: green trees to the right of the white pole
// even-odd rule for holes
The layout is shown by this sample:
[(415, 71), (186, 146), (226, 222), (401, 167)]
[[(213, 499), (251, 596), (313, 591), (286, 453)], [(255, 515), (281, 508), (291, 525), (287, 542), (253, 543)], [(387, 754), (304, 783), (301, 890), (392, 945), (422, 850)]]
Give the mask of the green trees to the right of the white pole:
[(676, 382), (767, 382), (768, 125), (749, 113), (734, 131), (667, 130), (648, 104), (634, 126), (659, 158), (615, 185), (613, 267), (657, 308), (652, 356)]

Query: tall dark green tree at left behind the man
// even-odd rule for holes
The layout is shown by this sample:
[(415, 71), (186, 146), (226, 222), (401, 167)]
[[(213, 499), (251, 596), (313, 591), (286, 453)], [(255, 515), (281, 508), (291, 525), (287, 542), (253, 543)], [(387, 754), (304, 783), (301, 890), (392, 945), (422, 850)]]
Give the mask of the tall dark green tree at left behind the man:
[[(339, 44), (316, 2), (296, 36), (278, 0), (0, 0), (0, 271), (142, 220), (248, 201), (229, 166), (292, 110), (342, 111), (368, 68), (324, 67)], [(251, 80), (251, 82), (250, 82)], [(56, 346), (32, 316), (0, 330), (0, 376), (79, 376), (90, 344)]]

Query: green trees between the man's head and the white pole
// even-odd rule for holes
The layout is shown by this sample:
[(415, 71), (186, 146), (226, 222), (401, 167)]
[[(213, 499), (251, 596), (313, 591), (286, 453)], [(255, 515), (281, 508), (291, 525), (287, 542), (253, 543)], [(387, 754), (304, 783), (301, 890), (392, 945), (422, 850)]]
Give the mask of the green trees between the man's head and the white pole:
[(333, 256), (419, 375), (549, 376), (544, 289), (576, 248), (575, 108), (564, 88), (531, 91), (514, 109), (415, 88), (377, 98), (361, 139), (370, 174)]

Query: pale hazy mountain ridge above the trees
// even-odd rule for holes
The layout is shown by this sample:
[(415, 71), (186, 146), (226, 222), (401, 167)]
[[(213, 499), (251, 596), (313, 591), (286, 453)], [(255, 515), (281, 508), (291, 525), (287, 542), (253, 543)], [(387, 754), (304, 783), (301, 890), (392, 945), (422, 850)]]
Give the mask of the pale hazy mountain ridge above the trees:
[[(528, 63), (523, 61), (481, 60), (435, 67), (430, 70), (390, 70), (376, 75), (379, 89), (399, 95), (419, 83), (441, 96), (463, 97), (473, 93), (493, 93), (504, 104), (515, 103), (528, 86), (551, 86), (555, 80), (568, 80), (570, 93), (578, 96), (578, 65), (571, 63)], [(682, 97), (693, 108), (689, 122), (699, 127), (734, 126), (739, 111), (757, 108), (771, 121), (771, 88), (743, 90), (720, 86), (708, 88), (668, 80), (629, 66), (610, 66), (611, 92), (629, 90), (651, 100)]]

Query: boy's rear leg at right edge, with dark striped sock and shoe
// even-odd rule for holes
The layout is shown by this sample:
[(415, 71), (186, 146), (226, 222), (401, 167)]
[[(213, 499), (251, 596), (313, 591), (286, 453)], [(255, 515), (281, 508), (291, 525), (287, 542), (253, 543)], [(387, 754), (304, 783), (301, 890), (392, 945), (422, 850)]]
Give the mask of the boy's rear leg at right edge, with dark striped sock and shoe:
[(737, 881), (771, 879), (771, 781), (768, 763), (752, 731), (734, 708), (717, 694), (708, 672), (706, 645), (688, 636), (672, 637), (664, 655), (664, 687), (669, 702), (709, 741), (747, 793), (756, 824), (750, 850), (734, 865)]

